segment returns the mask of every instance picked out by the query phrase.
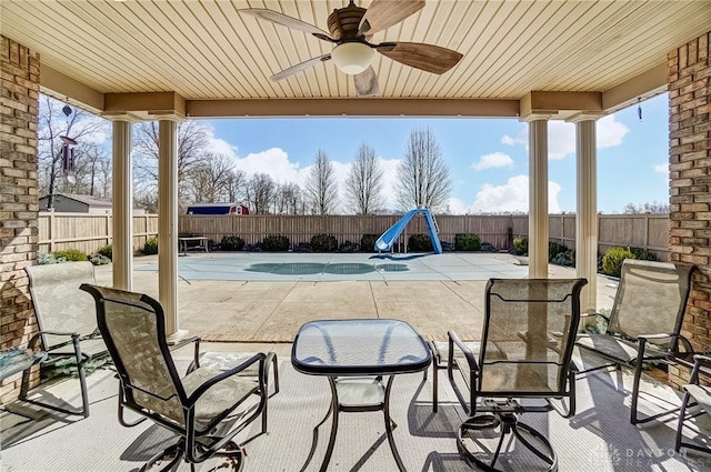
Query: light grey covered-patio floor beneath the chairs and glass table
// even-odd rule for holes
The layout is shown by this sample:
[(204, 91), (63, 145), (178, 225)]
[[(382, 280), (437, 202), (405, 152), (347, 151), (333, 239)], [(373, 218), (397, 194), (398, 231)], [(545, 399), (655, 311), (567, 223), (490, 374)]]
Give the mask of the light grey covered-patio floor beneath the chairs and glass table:
[[(280, 354), (281, 392), (270, 399), (269, 433), (247, 444), (246, 471), (316, 471), (323, 458), (330, 421), (319, 430), (316, 452), (309, 461), (312, 428), (326, 413), (330, 399), (328, 384), (323, 378), (296, 372), (288, 361), (289, 348), (289, 344), (206, 345), (210, 350), (274, 349)], [(176, 353), (176, 359), (179, 366), (184, 368), (188, 351)], [(454, 431), (463, 418), (461, 408), (453, 400), (447, 376), (441, 375), (440, 411), (432, 413), (431, 381), (431, 374), (427, 381), (421, 374), (401, 375), (395, 380), (391, 414), (399, 424), (394, 439), (402, 460), (409, 471), (469, 471), (459, 458), (454, 440)], [(89, 383), (91, 416), (88, 419), (67, 418), (18, 403), (11, 405), (31, 412), (39, 420), (17, 424), (21, 420), (18, 416), (6, 414), (0, 419), (2, 470), (136, 471), (142, 461), (170, 443), (169, 433), (156, 425), (142, 423), (132, 429), (119, 425), (116, 419), (118, 381), (112, 371), (94, 372)], [(629, 423), (629, 373), (599, 371), (580, 379), (577, 386), (574, 418), (567, 420), (555, 413), (524, 416), (550, 438), (559, 454), (560, 471), (711, 471), (709, 455), (684, 450), (674, 453), (674, 415), (642, 426)], [(658, 411), (657, 405), (667, 404), (665, 401), (679, 404), (677, 392), (671, 389), (651, 381), (645, 382), (644, 388), (653, 394), (644, 398), (654, 400), (641, 402), (644, 413)], [(61, 396), (74, 403), (79, 401), (72, 380), (41, 386), (34, 392), (46, 399)], [(710, 426), (707, 421), (703, 431), (711, 431)], [(254, 424), (247, 435), (258, 431), (259, 424)], [(687, 434), (692, 438), (699, 433)], [(708, 441), (708, 436), (704, 438)], [(517, 450), (515, 442), (505, 448), (500, 463), (504, 470), (540, 470), (528, 463), (530, 458)], [(198, 470), (216, 465), (219, 463), (208, 462)], [(180, 470), (189, 468), (183, 464)], [(329, 470), (397, 470), (380, 413), (342, 415)]]

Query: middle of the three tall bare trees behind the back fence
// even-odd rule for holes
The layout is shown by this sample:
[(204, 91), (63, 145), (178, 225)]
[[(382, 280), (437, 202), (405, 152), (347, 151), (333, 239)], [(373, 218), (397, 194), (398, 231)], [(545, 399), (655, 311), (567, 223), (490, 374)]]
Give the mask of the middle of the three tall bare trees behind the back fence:
[(357, 214), (372, 214), (382, 209), (383, 169), (375, 158), (375, 151), (361, 144), (351, 163), (346, 180), (346, 201)]

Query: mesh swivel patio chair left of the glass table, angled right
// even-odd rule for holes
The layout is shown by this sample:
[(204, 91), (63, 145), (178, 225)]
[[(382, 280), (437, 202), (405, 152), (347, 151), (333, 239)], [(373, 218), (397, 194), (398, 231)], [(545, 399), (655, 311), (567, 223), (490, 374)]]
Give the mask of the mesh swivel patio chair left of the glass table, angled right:
[[(256, 353), (227, 370), (199, 366), (196, 343), (192, 370), (181, 378), (166, 341), (163, 310), (158, 301), (89, 284), (82, 284), (81, 290), (96, 300), (99, 330), (118, 371), (119, 422), (133, 426), (150, 419), (179, 438), (141, 470), (164, 458), (171, 459), (163, 471), (172, 470), (181, 459), (192, 470), (193, 464), (213, 456), (223, 456), (240, 470), (243, 451), (232, 439), (260, 415), (262, 433), (267, 430), (267, 354)], [(249, 370), (256, 375), (246, 375)], [(128, 422), (124, 410), (144, 418)]]

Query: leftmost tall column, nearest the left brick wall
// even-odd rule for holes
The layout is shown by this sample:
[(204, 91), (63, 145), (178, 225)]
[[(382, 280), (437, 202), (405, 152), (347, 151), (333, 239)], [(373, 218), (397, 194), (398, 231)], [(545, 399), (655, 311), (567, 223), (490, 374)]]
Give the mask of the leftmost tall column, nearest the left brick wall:
[(131, 290), (133, 281), (133, 170), (132, 123), (113, 121), (112, 267), (113, 288)]

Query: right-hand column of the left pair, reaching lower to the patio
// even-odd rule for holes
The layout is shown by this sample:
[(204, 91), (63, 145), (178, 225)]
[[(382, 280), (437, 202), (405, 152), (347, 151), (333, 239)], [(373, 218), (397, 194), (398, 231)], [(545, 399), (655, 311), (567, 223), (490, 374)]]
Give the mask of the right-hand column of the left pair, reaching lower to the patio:
[(178, 328), (178, 122), (159, 117), (158, 132), (158, 298), (166, 313), (166, 335)]

